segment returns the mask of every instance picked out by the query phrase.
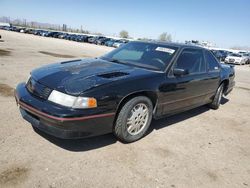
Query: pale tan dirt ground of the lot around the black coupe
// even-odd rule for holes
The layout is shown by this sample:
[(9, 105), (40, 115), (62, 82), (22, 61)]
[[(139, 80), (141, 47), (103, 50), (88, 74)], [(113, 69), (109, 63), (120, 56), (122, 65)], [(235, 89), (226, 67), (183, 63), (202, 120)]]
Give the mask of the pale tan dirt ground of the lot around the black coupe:
[(12, 97), (41, 65), (112, 48), (0, 30), (0, 187), (250, 187), (250, 67), (219, 110), (153, 121), (122, 144), (112, 134), (61, 140), (35, 132)]

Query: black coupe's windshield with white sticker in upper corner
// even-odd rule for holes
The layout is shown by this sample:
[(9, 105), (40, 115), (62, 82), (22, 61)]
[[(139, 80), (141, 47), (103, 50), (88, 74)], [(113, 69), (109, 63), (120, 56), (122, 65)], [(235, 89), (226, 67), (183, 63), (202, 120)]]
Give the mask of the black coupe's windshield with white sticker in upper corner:
[(143, 42), (129, 42), (102, 56), (102, 59), (164, 71), (177, 47)]

